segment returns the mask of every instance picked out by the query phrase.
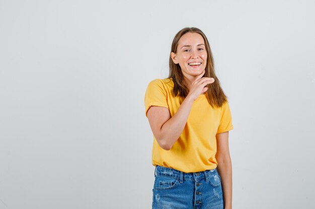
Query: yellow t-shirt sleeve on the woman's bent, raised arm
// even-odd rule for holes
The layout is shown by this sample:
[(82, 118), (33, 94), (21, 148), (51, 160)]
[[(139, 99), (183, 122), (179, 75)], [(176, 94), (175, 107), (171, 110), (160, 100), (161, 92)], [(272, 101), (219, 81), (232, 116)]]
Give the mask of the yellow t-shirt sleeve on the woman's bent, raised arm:
[(169, 109), (167, 92), (161, 80), (155, 79), (148, 84), (144, 96), (144, 106), (145, 116), (147, 116), (147, 111), (151, 106), (166, 107)]

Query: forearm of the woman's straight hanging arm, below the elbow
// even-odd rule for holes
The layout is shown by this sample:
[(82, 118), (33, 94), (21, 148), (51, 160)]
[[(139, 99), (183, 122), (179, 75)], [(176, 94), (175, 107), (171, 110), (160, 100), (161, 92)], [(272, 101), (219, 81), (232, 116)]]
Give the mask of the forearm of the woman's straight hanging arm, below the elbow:
[(232, 163), (230, 157), (218, 161), (217, 171), (221, 176), (224, 209), (232, 208)]

